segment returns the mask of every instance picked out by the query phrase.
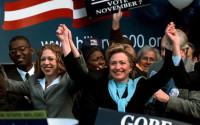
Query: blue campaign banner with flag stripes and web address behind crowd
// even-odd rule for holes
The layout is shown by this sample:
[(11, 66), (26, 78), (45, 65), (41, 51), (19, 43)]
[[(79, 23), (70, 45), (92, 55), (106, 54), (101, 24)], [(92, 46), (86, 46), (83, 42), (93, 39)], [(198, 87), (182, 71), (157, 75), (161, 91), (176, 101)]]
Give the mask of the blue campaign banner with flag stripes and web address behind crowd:
[[(120, 20), (122, 34), (132, 41), (136, 52), (144, 45), (160, 49), (169, 23), (165, 18), (168, 1), (150, 3), (124, 12)], [(0, 0), (0, 63), (11, 67), (8, 45), (14, 36), (29, 39), (35, 50), (33, 61), (43, 45), (61, 45), (56, 36), (60, 24), (71, 30), (78, 49), (88, 38), (98, 38), (104, 51), (109, 46), (112, 15), (88, 19), (84, 0)]]

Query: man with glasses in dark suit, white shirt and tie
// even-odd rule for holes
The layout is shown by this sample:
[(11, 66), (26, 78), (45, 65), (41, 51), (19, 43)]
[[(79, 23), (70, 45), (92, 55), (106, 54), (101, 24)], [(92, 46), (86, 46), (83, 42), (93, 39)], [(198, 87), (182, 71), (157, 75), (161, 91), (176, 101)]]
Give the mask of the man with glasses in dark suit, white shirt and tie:
[[(34, 74), (34, 64), (32, 55), (34, 49), (31, 47), (29, 40), (24, 36), (15, 36), (9, 42), (9, 56), (14, 65), (7, 69), (7, 77), (17, 81), (25, 81), (30, 75)], [(32, 110), (31, 100), (27, 96), (7, 93), (0, 100), (0, 110)]]

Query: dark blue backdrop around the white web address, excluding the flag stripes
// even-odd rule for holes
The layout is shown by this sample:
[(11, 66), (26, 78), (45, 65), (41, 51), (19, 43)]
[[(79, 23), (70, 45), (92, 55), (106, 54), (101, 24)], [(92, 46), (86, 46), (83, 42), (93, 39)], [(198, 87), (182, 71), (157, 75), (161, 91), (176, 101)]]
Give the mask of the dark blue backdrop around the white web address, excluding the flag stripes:
[[(8, 55), (9, 40), (15, 35), (24, 35), (28, 37), (35, 51), (43, 44), (57, 42), (56, 29), (59, 24), (66, 24), (72, 31), (73, 41), (80, 48), (82, 41), (87, 37), (98, 37), (102, 40), (103, 47), (106, 49), (109, 41), (109, 33), (112, 18), (106, 18), (83, 27), (74, 28), (73, 19), (69, 17), (54, 18), (32, 26), (16, 29), (5, 30), (2, 28), (4, 20), (4, 3), (17, 0), (0, 1), (0, 63), (9, 63), (11, 60)], [(23, 0), (29, 1), (30, 0)], [(172, 8), (172, 9), (170, 9)], [(132, 40), (136, 52), (144, 45), (160, 48), (160, 41), (164, 35), (164, 30), (169, 21), (174, 20), (171, 12), (173, 8), (168, 0), (151, 0), (151, 5), (130, 10), (130, 17), (123, 17), (121, 20), (122, 32)], [(180, 14), (180, 13), (178, 13)], [(180, 23), (180, 21), (177, 21)], [(36, 52), (35, 52), (36, 53)], [(35, 60), (36, 54), (33, 59)]]

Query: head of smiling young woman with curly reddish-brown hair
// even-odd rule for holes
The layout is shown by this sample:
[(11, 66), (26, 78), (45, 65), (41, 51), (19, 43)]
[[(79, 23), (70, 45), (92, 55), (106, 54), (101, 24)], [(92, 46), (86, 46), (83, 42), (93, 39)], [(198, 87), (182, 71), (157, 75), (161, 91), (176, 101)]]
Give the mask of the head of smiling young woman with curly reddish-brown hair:
[(39, 78), (56, 78), (66, 72), (62, 60), (62, 48), (55, 44), (46, 44), (37, 51), (35, 74)]

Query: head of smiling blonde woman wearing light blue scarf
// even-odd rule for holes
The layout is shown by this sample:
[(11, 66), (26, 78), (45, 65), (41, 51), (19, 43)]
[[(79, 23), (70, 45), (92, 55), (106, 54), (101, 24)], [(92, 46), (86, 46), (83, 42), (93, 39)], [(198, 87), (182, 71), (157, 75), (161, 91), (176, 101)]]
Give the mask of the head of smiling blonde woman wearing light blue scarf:
[(136, 53), (128, 44), (113, 44), (106, 50), (111, 77), (117, 83), (127, 82), (135, 77)]

